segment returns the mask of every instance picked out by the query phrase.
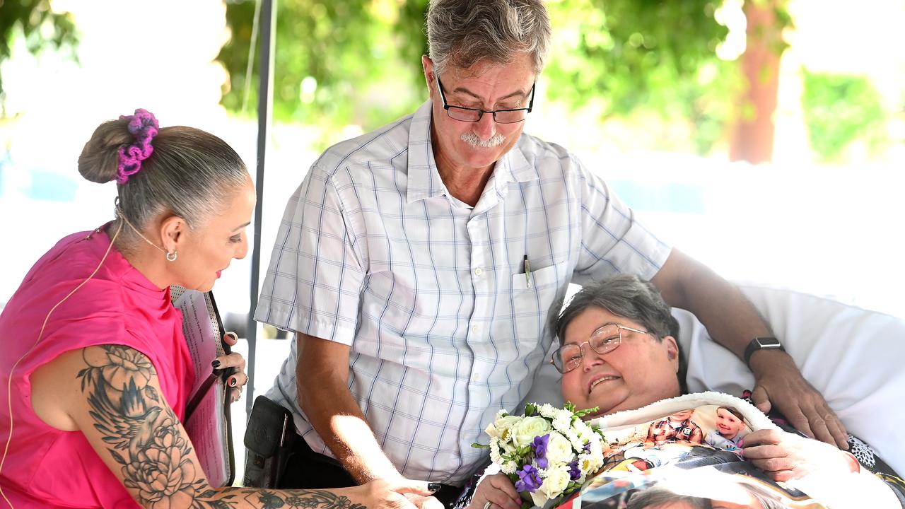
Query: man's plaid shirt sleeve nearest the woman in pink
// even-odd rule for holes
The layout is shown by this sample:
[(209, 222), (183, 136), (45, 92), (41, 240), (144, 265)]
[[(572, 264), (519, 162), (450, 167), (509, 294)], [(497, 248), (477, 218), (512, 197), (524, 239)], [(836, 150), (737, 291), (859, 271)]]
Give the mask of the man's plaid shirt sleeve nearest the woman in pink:
[(329, 175), (317, 165), (289, 200), (254, 319), (352, 344), (366, 271)]

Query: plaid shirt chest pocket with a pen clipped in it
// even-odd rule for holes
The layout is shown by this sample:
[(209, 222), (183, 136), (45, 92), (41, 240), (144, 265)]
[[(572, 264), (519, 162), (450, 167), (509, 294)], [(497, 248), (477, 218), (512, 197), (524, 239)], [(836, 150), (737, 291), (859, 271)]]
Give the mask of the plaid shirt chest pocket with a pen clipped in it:
[(536, 343), (540, 339), (550, 306), (568, 281), (566, 271), (567, 262), (559, 262), (530, 274), (512, 274), (512, 314), (519, 342)]

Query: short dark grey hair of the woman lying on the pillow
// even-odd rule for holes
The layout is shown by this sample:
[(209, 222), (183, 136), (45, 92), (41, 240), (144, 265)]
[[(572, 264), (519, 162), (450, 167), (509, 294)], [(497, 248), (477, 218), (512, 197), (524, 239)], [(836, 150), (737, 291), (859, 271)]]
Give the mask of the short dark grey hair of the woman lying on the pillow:
[(679, 322), (672, 316), (672, 308), (663, 300), (660, 291), (649, 281), (643, 281), (635, 275), (621, 274), (604, 281), (589, 283), (582, 287), (566, 309), (553, 317), (550, 330), (557, 331), (559, 342), (566, 337), (568, 324), (576, 316), (590, 307), (598, 307), (620, 318), (631, 320), (650, 332), (657, 341), (672, 336), (679, 348), (679, 387), (682, 394), (687, 390), (685, 375), (688, 363), (679, 345)]

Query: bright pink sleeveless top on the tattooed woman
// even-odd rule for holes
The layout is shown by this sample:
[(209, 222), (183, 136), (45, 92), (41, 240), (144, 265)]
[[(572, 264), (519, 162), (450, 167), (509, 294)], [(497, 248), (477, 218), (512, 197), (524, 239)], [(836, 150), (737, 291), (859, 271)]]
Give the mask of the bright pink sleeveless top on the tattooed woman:
[(52, 306), (98, 266), (110, 245), (103, 228), (69, 235), (53, 246), (0, 314), (0, 457), (12, 424), (9, 449), (0, 460), (0, 487), (16, 509), (138, 506), (80, 431), (50, 427), (34, 414), (30, 377), (63, 352), (119, 344), (144, 353), (167, 403), (180, 421), (185, 417), (194, 371), (182, 315), (170, 304), (169, 290), (149, 282), (115, 247), (98, 273), (57, 307), (41, 341), (34, 342)]

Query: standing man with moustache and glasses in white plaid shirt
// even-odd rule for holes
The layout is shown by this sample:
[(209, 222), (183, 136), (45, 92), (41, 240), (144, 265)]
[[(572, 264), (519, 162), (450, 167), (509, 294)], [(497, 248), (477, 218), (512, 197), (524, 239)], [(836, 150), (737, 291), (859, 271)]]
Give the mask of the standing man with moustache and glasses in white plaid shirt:
[[(472, 442), (528, 394), (569, 283), (649, 279), (739, 357), (769, 335), (737, 288), (522, 132), (549, 43), (542, 2), (432, 0), (427, 34), (429, 101), (324, 152), (277, 233), (255, 319), (298, 338), (268, 393), (304, 438), (287, 487), (405, 476), (454, 498), (486, 459)], [(762, 404), (840, 433), (784, 351), (751, 367)]]

